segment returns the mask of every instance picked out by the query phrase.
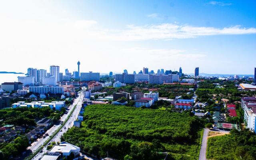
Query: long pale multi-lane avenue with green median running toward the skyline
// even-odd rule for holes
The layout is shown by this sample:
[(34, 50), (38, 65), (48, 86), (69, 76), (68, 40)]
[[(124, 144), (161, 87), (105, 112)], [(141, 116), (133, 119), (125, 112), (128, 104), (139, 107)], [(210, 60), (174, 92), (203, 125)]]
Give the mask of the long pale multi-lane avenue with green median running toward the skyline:
[[(82, 93), (82, 92), (81, 92)], [(73, 105), (70, 105), (68, 114), (71, 112), (71, 110), (73, 109), (73, 107), (76, 106), (76, 109), (74, 110), (72, 116), (70, 116), (69, 120), (66, 122), (66, 124), (63, 126), (62, 131), (58, 132), (56, 134), (56, 136), (54, 136), (54, 138), (52, 138), (52, 140), (50, 142), (60, 142), (60, 138), (62, 136), (63, 133), (65, 133), (68, 128), (71, 128), (74, 125), (74, 121), (77, 119), (78, 114), (81, 110), (82, 107), (82, 103), (83, 103), (83, 98), (84, 95), (83, 94), (79, 94), (78, 98), (76, 98), (74, 100)], [(77, 105), (76, 105), (77, 104)], [(68, 114), (64, 114), (64, 116), (62, 116), (61, 121), (66, 120), (66, 118), (68, 117)], [(56, 131), (61, 124), (59, 125), (54, 125), (52, 128), (50, 128), (46, 133), (48, 133), (49, 135), (51, 135), (54, 131)], [(66, 129), (64, 129), (66, 127)], [(34, 144), (32, 147), (30, 147), (29, 149), (32, 150), (32, 152), (34, 152), (37, 148), (39, 148), (40, 146), (42, 146), (44, 144), (44, 142), (46, 142), (46, 140), (48, 139), (48, 137), (46, 138), (41, 138), (39, 139), (36, 144)], [(38, 154), (36, 154), (36, 156), (34, 156), (34, 158), (32, 158), (32, 160), (39, 160), (40, 158), (42, 158), (43, 154), (46, 152), (46, 148), (48, 145), (44, 146), (44, 148), (42, 149), (43, 152), (40, 153), (38, 152)]]

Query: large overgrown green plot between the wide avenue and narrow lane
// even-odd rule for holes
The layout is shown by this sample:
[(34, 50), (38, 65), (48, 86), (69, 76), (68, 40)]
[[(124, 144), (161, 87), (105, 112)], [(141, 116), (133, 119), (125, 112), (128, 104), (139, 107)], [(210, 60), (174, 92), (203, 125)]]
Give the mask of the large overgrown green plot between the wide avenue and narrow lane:
[(98, 157), (119, 160), (197, 160), (200, 130), (204, 122), (188, 112), (152, 110), (127, 106), (90, 105), (85, 108), (82, 128), (71, 128), (62, 140)]

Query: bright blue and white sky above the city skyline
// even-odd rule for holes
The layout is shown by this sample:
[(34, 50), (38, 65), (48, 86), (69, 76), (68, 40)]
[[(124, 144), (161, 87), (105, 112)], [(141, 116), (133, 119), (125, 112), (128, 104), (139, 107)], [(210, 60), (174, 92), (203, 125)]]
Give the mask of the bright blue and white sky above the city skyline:
[(254, 74), (255, 0), (0, 0), (0, 71)]

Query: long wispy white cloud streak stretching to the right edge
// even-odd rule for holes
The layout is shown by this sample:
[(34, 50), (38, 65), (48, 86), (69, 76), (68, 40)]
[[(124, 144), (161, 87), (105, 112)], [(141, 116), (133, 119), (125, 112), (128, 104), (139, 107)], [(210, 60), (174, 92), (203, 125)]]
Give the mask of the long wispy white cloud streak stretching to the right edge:
[(159, 24), (135, 26), (128, 25), (124, 30), (108, 33), (108, 38), (112, 40), (170, 40), (197, 38), (200, 36), (212, 35), (240, 35), (256, 34), (256, 28), (242, 28), (241, 26), (231, 26), (225, 28), (196, 27), (178, 24)]

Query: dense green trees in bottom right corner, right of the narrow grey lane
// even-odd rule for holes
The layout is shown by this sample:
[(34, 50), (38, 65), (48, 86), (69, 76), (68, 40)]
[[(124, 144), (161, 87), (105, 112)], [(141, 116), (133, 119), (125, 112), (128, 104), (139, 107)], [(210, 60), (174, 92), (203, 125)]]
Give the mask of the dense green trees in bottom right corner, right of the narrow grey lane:
[(255, 160), (256, 134), (232, 130), (225, 136), (208, 139), (207, 158), (214, 160)]

